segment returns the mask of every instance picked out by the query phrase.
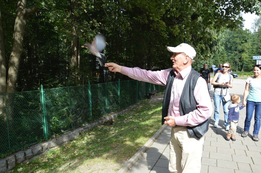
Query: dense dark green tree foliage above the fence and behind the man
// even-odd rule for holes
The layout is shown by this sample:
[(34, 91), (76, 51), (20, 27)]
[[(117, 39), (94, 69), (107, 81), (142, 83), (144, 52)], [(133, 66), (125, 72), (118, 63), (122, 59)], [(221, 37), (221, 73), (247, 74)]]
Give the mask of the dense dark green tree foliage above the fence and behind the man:
[[(127, 79), (104, 71), (98, 66), (94, 55), (80, 48), (85, 42), (92, 42), (99, 32), (107, 38), (104, 50), (107, 62), (149, 70), (170, 68), (171, 53), (166, 46), (177, 46), (182, 42), (195, 47), (197, 57), (193, 66), (196, 68), (204, 61), (216, 65), (222, 61), (233, 61), (233, 67), (238, 71), (248, 70), (249, 63), (241, 59), (248, 57), (250, 52), (260, 52), (259, 44), (255, 44), (257, 49), (252, 49), (251, 44), (248, 45), (251, 51), (244, 54), (246, 38), (236, 40), (236, 35), (230, 37), (234, 41), (229, 40), (233, 45), (231, 51), (225, 52), (224, 44), (228, 44), (228, 40), (223, 38), (222, 33), (226, 29), (242, 27), (240, 11), (256, 11), (259, 14), (260, 2), (257, 0), (27, 2), (28, 7), (33, 5), (39, 9), (28, 17), (20, 62), (23, 68), (19, 71), (17, 91), (37, 89), (40, 84), (52, 88), (84, 85), (88, 81), (103, 83), (118, 78)], [(2, 1), (7, 67), (12, 50), (16, 6), (16, 1)], [(255, 38), (259, 38), (259, 26), (255, 26)], [(238, 33), (238, 36), (249, 37), (244, 32)], [(72, 44), (74, 38), (77, 38), (78, 45)], [(239, 43), (242, 45), (236, 48)], [(71, 67), (74, 55), (71, 46), (80, 49), (76, 51), (79, 58), (75, 67)]]

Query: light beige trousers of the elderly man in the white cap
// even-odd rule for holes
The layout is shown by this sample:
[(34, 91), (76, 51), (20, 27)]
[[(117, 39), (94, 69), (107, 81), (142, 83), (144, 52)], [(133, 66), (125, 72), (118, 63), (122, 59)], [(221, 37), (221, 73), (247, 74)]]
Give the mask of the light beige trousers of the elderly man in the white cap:
[(187, 127), (172, 127), (168, 170), (171, 173), (200, 173), (204, 137), (192, 138)]

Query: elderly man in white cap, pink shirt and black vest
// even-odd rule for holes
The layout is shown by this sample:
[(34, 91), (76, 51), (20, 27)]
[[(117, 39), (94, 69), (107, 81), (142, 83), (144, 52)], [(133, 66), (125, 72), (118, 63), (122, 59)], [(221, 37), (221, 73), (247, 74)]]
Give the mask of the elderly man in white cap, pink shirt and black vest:
[(196, 56), (193, 47), (182, 43), (167, 47), (173, 55), (173, 68), (147, 71), (106, 63), (111, 72), (132, 79), (166, 86), (162, 106), (162, 124), (172, 126), (170, 138), (170, 172), (200, 172), (203, 135), (208, 130), (213, 108), (205, 79), (192, 67)]

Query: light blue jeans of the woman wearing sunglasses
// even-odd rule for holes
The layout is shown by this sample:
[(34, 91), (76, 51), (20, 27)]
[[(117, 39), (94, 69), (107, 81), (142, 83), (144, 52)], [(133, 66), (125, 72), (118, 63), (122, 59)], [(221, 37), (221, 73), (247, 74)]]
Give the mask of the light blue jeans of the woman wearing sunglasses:
[(224, 110), (224, 118), (225, 118), (225, 127), (229, 126), (229, 122), (228, 122), (228, 106), (229, 106), (229, 101), (224, 101), (223, 100), (223, 96), (222, 95), (215, 95), (214, 94), (214, 121), (218, 122), (219, 121), (219, 109), (220, 109), (220, 105), (221, 105), (221, 101), (222, 101), (222, 105), (223, 105), (223, 110)]

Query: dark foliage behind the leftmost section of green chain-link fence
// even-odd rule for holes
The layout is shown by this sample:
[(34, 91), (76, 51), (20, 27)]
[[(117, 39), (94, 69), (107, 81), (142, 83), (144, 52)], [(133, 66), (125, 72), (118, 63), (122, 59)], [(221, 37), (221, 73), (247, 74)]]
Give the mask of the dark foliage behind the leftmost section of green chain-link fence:
[[(7, 98), (6, 116), (0, 116), (1, 154), (25, 149), (44, 137), (40, 92), (10, 93)], [(10, 119), (10, 115), (12, 115), (12, 119)]]

